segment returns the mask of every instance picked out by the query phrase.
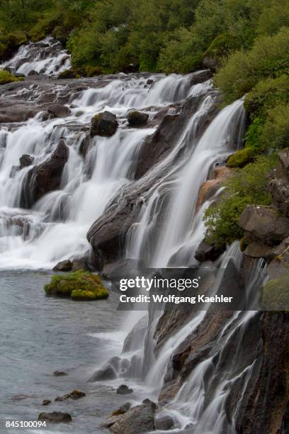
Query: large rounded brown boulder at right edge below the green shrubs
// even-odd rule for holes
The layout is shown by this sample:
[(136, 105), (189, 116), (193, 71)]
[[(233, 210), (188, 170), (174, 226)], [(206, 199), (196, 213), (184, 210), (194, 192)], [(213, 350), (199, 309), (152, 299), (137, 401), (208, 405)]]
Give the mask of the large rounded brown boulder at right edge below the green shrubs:
[(269, 206), (246, 206), (239, 218), (248, 243), (274, 246), (289, 235), (289, 218)]

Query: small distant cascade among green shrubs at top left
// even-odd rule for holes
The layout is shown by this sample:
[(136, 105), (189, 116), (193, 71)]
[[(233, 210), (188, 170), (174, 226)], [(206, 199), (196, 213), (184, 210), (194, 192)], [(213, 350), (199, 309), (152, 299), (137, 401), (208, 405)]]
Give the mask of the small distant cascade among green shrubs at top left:
[(32, 72), (55, 75), (71, 65), (67, 50), (63, 50), (59, 41), (47, 36), (38, 43), (21, 45), (11, 60), (0, 64), (0, 69), (4, 67), (23, 75)]

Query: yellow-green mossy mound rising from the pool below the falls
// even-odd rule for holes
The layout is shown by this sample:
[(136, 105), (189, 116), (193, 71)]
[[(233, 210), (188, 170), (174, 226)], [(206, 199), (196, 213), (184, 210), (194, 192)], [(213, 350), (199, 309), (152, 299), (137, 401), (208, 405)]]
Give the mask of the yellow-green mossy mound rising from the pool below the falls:
[(83, 269), (66, 276), (56, 274), (44, 289), (48, 296), (71, 297), (77, 301), (107, 299), (109, 295), (101, 278)]

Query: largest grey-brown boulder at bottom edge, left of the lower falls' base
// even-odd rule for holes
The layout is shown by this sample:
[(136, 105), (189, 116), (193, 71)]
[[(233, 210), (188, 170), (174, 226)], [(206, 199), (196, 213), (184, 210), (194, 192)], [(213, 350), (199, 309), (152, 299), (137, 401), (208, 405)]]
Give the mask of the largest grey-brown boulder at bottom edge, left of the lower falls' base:
[(155, 429), (154, 414), (156, 404), (145, 399), (142, 404), (130, 408), (125, 414), (118, 416), (109, 428), (115, 434), (141, 434)]

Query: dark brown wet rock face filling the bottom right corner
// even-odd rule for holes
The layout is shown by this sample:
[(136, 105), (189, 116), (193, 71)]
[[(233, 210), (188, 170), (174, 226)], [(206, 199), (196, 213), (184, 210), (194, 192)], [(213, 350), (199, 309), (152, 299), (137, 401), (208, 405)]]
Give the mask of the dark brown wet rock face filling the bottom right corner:
[(288, 433), (289, 314), (263, 313), (261, 339), (257, 368), (237, 414), (237, 432)]

